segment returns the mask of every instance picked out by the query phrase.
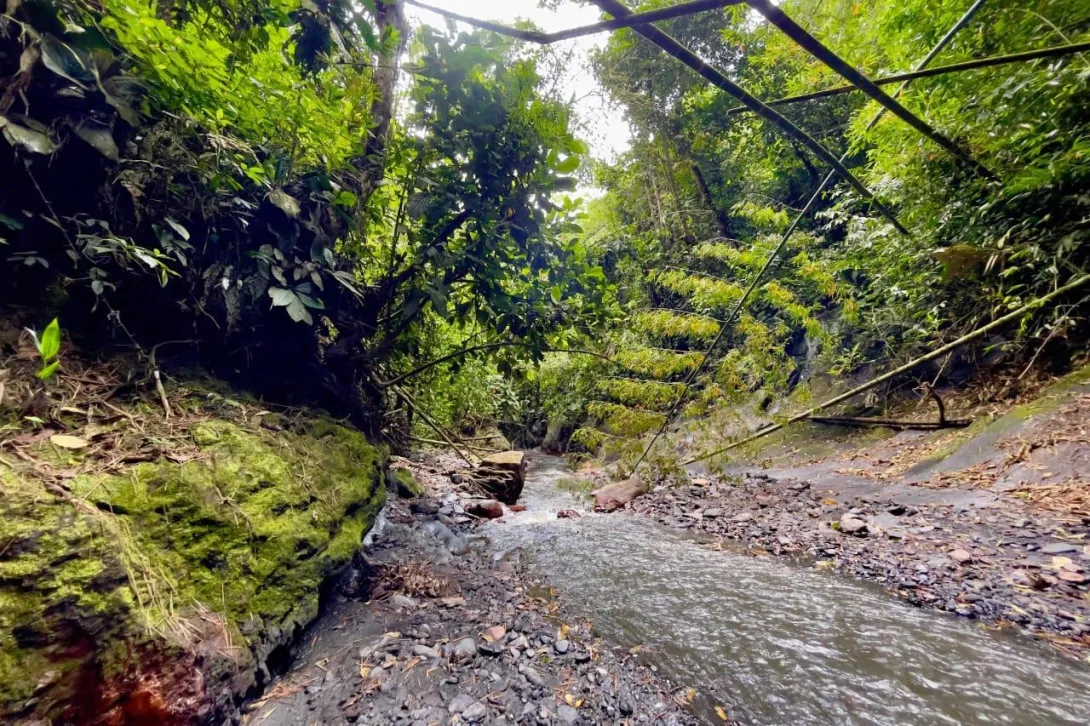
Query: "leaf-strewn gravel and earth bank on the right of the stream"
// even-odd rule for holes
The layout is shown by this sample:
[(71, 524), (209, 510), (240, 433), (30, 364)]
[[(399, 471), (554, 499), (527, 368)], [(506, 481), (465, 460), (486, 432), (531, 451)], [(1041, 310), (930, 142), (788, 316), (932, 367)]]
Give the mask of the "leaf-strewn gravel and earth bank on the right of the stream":
[(765, 451), (630, 506), (716, 546), (810, 558), (1090, 660), (1088, 418), (1080, 380), (969, 432), (849, 438), (801, 462)]

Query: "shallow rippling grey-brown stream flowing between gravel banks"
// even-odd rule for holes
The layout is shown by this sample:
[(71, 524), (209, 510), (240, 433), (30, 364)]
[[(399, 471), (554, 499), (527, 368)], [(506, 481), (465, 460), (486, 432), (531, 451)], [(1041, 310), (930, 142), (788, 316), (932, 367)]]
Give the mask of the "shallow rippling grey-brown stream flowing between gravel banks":
[(1090, 667), (1017, 636), (917, 609), (780, 559), (713, 550), (579, 508), (559, 459), (531, 464), (528, 509), (489, 527), (606, 638), (747, 724), (1088, 724)]

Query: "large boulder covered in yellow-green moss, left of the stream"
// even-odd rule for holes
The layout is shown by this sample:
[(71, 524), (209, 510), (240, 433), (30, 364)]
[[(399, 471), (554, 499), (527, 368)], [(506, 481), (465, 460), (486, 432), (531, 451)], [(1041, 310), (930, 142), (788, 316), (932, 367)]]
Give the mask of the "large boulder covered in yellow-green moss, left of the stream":
[(199, 423), (71, 495), (0, 460), (0, 721), (220, 721), (267, 679), (385, 497), (385, 450), (300, 431)]

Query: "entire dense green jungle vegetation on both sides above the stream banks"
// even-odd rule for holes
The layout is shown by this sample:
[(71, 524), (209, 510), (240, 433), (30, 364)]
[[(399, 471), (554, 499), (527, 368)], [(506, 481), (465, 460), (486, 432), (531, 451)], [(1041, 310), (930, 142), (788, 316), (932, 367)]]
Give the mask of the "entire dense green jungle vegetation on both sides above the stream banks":
[[(969, 4), (782, 8), (880, 77)], [(747, 5), (661, 27), (763, 99), (843, 85)], [(555, 49), (410, 27), (383, 0), (9, 0), (0, 33), (0, 303), (395, 443), (434, 437), (417, 411), (631, 456), (716, 337), (688, 418), (804, 400), (815, 371), (886, 370), (1086, 271), (1086, 53), (901, 95), (994, 178), (896, 118), (871, 128), (860, 93), (777, 106), (908, 233), (835, 179), (723, 330), (827, 169), (630, 29), (588, 69), (632, 129), (614, 159), (580, 138)], [(1085, 3), (985, 2), (933, 64), (1088, 37)], [(928, 377), (1066, 365), (1086, 302)]]

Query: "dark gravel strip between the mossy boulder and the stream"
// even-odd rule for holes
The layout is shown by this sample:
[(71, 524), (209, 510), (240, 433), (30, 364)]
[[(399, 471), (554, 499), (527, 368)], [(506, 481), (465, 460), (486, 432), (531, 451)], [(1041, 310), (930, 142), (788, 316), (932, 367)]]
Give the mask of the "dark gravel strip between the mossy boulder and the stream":
[(568, 616), (518, 552), (489, 554), (443, 474), (459, 467), (432, 464), (413, 469), (440, 496), (388, 505), (348, 578), (362, 596), (334, 596), (247, 724), (697, 723), (691, 694)]

